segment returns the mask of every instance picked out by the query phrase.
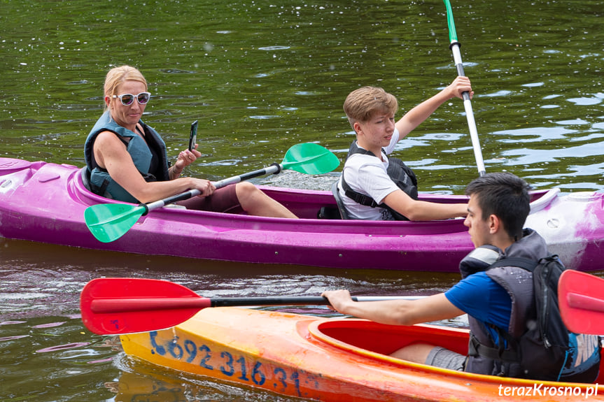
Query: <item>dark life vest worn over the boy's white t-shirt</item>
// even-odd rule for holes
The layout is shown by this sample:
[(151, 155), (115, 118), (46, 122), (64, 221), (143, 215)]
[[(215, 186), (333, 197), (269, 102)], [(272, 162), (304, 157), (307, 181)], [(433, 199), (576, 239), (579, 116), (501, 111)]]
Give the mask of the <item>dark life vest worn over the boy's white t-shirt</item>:
[[(385, 154), (386, 152), (384, 152)], [(371, 155), (372, 157), (377, 157), (373, 152), (364, 150), (363, 148), (359, 148), (356, 145), (356, 141), (353, 141), (350, 145), (350, 149), (348, 155), (346, 155), (346, 159), (348, 159), (351, 155), (361, 154), (361, 155)], [(415, 173), (412, 171), (409, 166), (405, 165), (405, 162), (398, 158), (388, 158), (388, 168), (386, 169), (388, 173), (388, 177), (397, 185), (398, 188), (402, 189), (405, 194), (410, 196), (412, 199), (417, 199), (417, 178)], [(408, 220), (407, 217), (393, 210), (385, 203), (377, 203), (370, 196), (365, 194), (360, 194), (360, 192), (354, 191), (349, 184), (344, 180), (344, 171), (342, 171), (342, 189), (344, 189), (344, 194), (346, 194), (349, 199), (355, 201), (356, 203), (360, 203), (363, 206), (370, 206), (371, 208), (386, 208), (389, 210), (395, 220)]]

